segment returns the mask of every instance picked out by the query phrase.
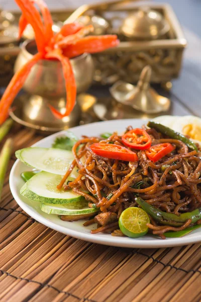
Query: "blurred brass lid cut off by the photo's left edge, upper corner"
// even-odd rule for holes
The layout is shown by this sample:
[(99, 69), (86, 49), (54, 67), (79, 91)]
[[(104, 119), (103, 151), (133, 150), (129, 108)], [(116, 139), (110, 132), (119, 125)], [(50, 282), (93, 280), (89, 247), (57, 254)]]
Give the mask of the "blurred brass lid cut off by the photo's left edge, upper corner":
[(15, 17), (12, 13), (0, 10), (0, 45), (18, 40), (18, 26), (14, 22)]

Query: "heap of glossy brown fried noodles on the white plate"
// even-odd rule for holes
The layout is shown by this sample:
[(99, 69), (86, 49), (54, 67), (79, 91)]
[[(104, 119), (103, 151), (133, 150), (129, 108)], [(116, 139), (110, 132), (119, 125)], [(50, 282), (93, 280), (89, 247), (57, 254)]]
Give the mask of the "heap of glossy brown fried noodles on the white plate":
[[(99, 207), (99, 213), (116, 213), (117, 220), (124, 209), (138, 206), (135, 202), (136, 195), (155, 208), (176, 215), (200, 207), (201, 160), (199, 152), (189, 150), (182, 141), (164, 137), (154, 129), (147, 129), (147, 132), (152, 137), (152, 145), (169, 142), (175, 146), (175, 149), (157, 163), (152, 163), (144, 150), (137, 150), (139, 161), (129, 163), (99, 157), (90, 149), (90, 145), (94, 142), (123, 145), (121, 136), (117, 133), (105, 140), (84, 136), (73, 146), (74, 161), (57, 188), (72, 189), (76, 194), (85, 197), (89, 202), (89, 207), (93, 207), (93, 204)], [(165, 170), (162, 170), (163, 166)], [(74, 168), (78, 169), (78, 177), (64, 185)], [(143, 183), (139, 187), (140, 181)], [(91, 219), (84, 225), (93, 222), (94, 219)], [(165, 238), (163, 235), (165, 232), (181, 231), (190, 224), (191, 220), (188, 219), (182, 226), (176, 228), (171, 225), (160, 225), (151, 218), (148, 226), (150, 232)], [(114, 236), (115, 234), (122, 236), (118, 229), (118, 221), (113, 221), (107, 225), (99, 225), (91, 233), (115, 231)]]

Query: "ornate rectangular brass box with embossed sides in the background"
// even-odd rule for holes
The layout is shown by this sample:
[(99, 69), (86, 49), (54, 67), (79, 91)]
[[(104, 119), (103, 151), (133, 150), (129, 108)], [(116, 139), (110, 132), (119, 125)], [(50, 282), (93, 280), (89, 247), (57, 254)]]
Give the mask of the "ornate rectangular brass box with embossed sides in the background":
[[(112, 84), (117, 80), (136, 83), (145, 65), (152, 67), (152, 83), (168, 82), (177, 78), (181, 69), (183, 50), (186, 40), (181, 26), (169, 5), (154, 5), (149, 7), (158, 11), (170, 25), (170, 30), (162, 39), (151, 41), (125, 41), (125, 37), (113, 28), (131, 12), (140, 6), (125, 8), (117, 6), (110, 12), (101, 13), (102, 17), (112, 25), (112, 32), (119, 34), (120, 45), (102, 53), (93, 54), (95, 61), (95, 81), (101, 84)], [(85, 13), (86, 14), (86, 13)]]

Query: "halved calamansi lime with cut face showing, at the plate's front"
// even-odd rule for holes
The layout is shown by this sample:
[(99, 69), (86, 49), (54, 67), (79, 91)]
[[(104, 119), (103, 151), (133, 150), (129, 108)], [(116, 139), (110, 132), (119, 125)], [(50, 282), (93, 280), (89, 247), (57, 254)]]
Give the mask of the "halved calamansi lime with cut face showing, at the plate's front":
[(130, 207), (122, 212), (119, 227), (124, 235), (138, 238), (147, 234), (149, 222), (149, 216), (143, 209)]

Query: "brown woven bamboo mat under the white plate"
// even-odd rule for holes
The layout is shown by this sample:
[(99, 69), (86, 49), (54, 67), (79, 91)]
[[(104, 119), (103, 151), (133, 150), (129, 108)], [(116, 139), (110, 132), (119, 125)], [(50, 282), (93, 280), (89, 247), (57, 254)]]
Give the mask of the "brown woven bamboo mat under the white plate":
[[(15, 149), (42, 136), (15, 125)], [(125, 249), (48, 229), (13, 199), (6, 175), (0, 208), (0, 301), (200, 301), (201, 244)]]

